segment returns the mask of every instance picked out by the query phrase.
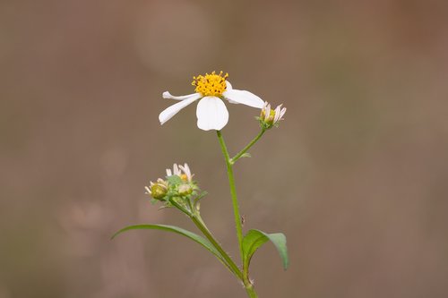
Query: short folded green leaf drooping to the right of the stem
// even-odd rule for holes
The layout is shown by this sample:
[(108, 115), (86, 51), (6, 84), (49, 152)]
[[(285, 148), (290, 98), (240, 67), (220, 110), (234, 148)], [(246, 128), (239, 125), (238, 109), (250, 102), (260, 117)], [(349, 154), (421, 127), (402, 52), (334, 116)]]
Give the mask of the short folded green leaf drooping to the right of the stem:
[(267, 234), (260, 230), (249, 230), (243, 238), (243, 266), (248, 270), (250, 261), (255, 251), (268, 240), (274, 244), (279, 251), (283, 268), (286, 270), (289, 266), (288, 250), (286, 247), (286, 236), (282, 233)]

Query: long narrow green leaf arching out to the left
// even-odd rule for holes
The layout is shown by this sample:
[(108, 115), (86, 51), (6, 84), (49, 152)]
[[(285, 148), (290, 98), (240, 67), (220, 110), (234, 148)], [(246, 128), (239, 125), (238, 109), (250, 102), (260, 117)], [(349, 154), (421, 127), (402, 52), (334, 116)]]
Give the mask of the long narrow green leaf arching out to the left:
[(194, 234), (193, 232), (190, 232), (188, 230), (185, 230), (178, 226), (168, 226), (168, 225), (135, 225), (135, 226), (126, 226), (125, 228), (122, 228), (116, 234), (114, 234), (111, 239), (114, 239), (118, 234), (122, 234), (126, 231), (130, 230), (162, 230), (162, 231), (168, 231), (173, 232), (176, 234), (181, 234), (187, 238), (190, 238), (196, 243), (201, 244), (204, 248), (206, 248), (208, 251), (210, 251), (212, 254), (214, 254), (224, 265), (228, 266), (224, 258), (221, 256), (220, 251), (217, 251), (214, 246), (205, 238), (198, 234)]

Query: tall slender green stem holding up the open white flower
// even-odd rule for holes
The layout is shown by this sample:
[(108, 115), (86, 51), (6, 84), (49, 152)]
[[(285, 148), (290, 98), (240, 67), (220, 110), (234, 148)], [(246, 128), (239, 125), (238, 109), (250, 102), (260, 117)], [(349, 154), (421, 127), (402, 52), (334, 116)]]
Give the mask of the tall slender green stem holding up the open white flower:
[(235, 188), (235, 178), (233, 176), (233, 168), (230, 161), (230, 157), (228, 156), (228, 149), (226, 147), (226, 143), (224, 142), (224, 139), (222, 138), (222, 134), (220, 131), (216, 131), (218, 134), (218, 139), (220, 140), (220, 146), (222, 150), (222, 154), (224, 155), (224, 158), (226, 160), (226, 166), (227, 166), (227, 175), (228, 175), (228, 183), (230, 184), (230, 195), (232, 197), (232, 205), (233, 205), (233, 213), (235, 216), (235, 226), (237, 228), (237, 237), (238, 237), (238, 244), (239, 244), (239, 254), (241, 257), (241, 260), (244, 258), (243, 254), (243, 226), (241, 225), (241, 216), (239, 215), (239, 206), (238, 206), (238, 199), (237, 199), (237, 189)]

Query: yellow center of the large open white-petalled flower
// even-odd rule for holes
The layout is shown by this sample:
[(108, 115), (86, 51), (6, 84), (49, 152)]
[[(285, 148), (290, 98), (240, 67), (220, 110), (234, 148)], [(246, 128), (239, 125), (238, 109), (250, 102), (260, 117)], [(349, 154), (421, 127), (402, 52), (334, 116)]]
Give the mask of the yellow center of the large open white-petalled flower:
[(211, 72), (211, 74), (205, 73), (205, 75), (193, 77), (192, 85), (196, 86), (194, 90), (201, 93), (204, 97), (220, 97), (227, 88), (227, 78), (227, 72), (224, 75), (223, 72), (219, 74), (216, 74), (216, 72)]

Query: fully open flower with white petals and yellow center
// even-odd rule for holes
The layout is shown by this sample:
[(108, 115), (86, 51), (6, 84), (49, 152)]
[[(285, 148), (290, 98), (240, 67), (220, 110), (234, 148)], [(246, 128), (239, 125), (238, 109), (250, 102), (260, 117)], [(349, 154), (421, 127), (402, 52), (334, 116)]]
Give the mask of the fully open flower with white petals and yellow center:
[(163, 92), (163, 98), (180, 100), (173, 106), (168, 106), (159, 115), (160, 124), (166, 123), (185, 106), (201, 99), (196, 108), (197, 126), (203, 131), (220, 131), (228, 123), (228, 110), (222, 99), (232, 104), (243, 104), (257, 108), (263, 107), (263, 99), (246, 90), (232, 89), (227, 81), (228, 73), (205, 73), (193, 78), (192, 85), (196, 93), (173, 96), (168, 91)]

